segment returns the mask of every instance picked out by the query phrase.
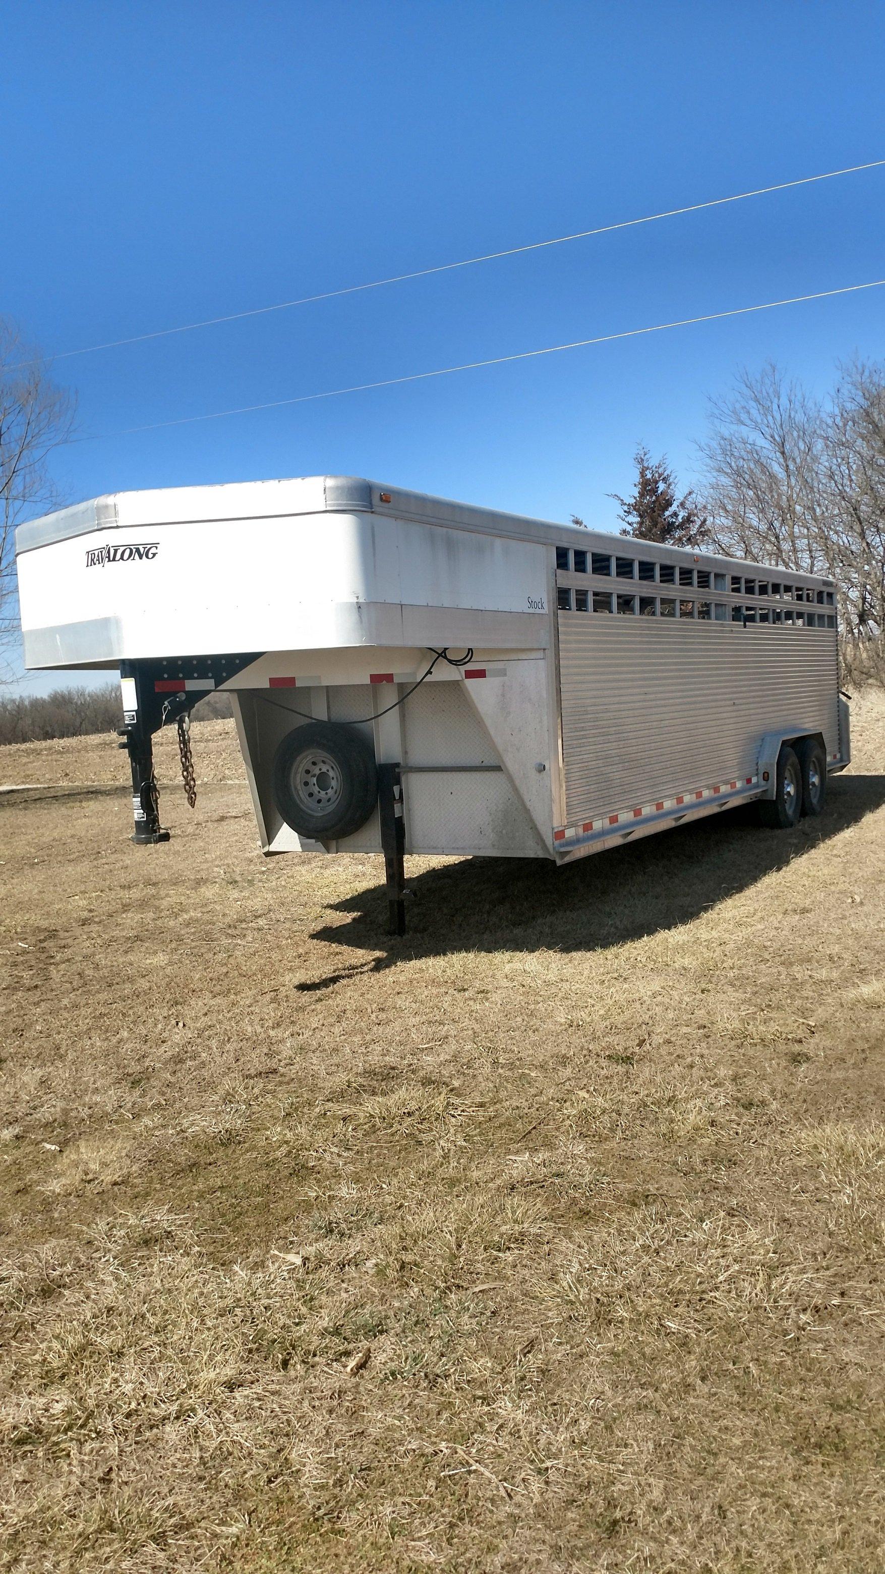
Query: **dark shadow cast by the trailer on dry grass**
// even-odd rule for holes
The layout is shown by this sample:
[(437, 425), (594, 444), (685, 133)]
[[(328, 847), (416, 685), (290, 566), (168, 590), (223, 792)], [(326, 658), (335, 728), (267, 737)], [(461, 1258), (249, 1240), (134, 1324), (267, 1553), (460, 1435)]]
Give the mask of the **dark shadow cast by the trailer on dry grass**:
[(542, 859), (465, 858), (413, 877), (406, 858), (405, 938), (386, 935), (384, 886), (368, 886), (334, 903), (350, 922), (323, 926), (312, 938), (373, 955), (298, 987), (329, 988), (356, 973), (380, 973), (419, 955), (580, 952), (641, 940), (690, 922), (883, 803), (885, 776), (852, 774), (836, 778), (824, 814), (795, 831), (764, 829), (753, 806), (745, 806), (564, 869)]

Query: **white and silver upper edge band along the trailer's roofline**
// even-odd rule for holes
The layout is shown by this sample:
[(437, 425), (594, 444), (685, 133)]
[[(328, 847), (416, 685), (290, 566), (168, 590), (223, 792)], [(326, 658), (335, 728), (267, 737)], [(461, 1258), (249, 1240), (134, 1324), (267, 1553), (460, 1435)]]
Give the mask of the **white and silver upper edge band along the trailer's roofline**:
[[(482, 535), (542, 541), (550, 546), (600, 546), (609, 552), (616, 552), (619, 548), (624, 552), (625, 543), (630, 541), (630, 551), (641, 546), (642, 556), (652, 559), (672, 560), (676, 557), (685, 559), (685, 562), (701, 562), (707, 567), (746, 567), (750, 562), (720, 557), (702, 549), (663, 546), (657, 541), (639, 541), (633, 537), (591, 530), (583, 526), (504, 513), (498, 508), (480, 508), (402, 486), (384, 486), (357, 475), (299, 475), (263, 482), (222, 482), (214, 486), (162, 486), (146, 491), (109, 493), (20, 524), (16, 530), (16, 552), (33, 551), (94, 530), (148, 524), (194, 524), (216, 519), (269, 519), (315, 513), (378, 513)], [(784, 568), (784, 565), (753, 562), (751, 567), (791, 573), (808, 584), (833, 584), (831, 579)]]

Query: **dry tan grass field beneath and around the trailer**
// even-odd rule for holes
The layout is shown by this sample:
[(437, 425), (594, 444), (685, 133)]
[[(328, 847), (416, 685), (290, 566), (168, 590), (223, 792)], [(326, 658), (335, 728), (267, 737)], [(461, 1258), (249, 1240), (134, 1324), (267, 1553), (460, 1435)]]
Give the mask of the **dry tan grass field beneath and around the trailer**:
[(885, 1555), (885, 696), (795, 833), (257, 850), (230, 722), (0, 751), (0, 1566)]

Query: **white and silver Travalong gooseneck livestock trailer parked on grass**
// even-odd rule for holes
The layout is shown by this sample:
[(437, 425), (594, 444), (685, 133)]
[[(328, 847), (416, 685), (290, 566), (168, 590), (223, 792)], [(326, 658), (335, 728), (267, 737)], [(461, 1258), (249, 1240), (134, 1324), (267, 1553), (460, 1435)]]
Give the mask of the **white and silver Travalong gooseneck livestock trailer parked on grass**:
[[(28, 667), (120, 669), (151, 737), (230, 694), (265, 853), (586, 858), (849, 763), (831, 579), (346, 475), (98, 497), (20, 526)], [(186, 735), (183, 732), (184, 757)]]

